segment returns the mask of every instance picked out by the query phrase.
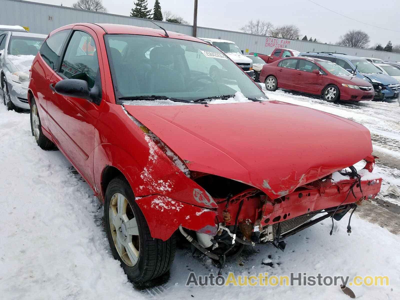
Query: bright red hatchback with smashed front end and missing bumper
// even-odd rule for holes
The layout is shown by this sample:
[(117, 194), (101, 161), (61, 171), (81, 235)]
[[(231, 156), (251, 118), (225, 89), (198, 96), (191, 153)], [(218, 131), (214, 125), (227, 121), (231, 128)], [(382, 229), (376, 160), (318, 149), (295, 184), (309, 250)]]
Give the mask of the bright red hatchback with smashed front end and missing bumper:
[(54, 30), (28, 99), (36, 142), (56, 145), (104, 204), (112, 254), (133, 282), (167, 272), (177, 235), (223, 266), (244, 245), (283, 250), (285, 237), (380, 190), (364, 126), (266, 101), (218, 48), (183, 34)]

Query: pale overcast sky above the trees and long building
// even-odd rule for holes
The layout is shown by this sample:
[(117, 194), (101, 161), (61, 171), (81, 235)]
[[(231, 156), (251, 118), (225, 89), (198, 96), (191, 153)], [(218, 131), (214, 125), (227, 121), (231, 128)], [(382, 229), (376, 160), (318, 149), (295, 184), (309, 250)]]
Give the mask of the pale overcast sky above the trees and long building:
[[(194, 0), (159, 0), (161, 9), (170, 10), (193, 24)], [(400, 44), (400, 1), (399, 0), (313, 0), (314, 2), (374, 26), (397, 30), (398, 32), (368, 26), (333, 12), (308, 0), (198, 0), (198, 26), (239, 31), (251, 19), (270, 21), (274, 25), (295, 24), (300, 28), (301, 38), (317, 38), (321, 42), (337, 42), (339, 36), (350, 29), (361, 29), (370, 35), (371, 43), (386, 45), (388, 40)], [(38, 0), (65, 6), (72, 6), (76, 0)], [(103, 0), (112, 14), (129, 15), (133, 0)], [(153, 8), (154, 0), (148, 0)]]

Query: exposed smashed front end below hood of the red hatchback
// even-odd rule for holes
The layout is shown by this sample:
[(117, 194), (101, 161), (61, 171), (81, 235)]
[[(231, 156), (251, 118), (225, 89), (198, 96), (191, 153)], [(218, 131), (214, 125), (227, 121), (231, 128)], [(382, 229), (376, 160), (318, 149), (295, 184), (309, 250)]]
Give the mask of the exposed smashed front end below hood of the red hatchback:
[(334, 172), (275, 199), (240, 182), (192, 172), (193, 180), (218, 204), (218, 231), (214, 236), (190, 236), (182, 226), (180, 231), (202, 253), (221, 262), (226, 256), (236, 256), (243, 245), (274, 244), (283, 251), (288, 236), (326, 218), (340, 220), (367, 197), (378, 194), (382, 178), (372, 173), (375, 157), (364, 160), (362, 170), (350, 167), (350, 171)]

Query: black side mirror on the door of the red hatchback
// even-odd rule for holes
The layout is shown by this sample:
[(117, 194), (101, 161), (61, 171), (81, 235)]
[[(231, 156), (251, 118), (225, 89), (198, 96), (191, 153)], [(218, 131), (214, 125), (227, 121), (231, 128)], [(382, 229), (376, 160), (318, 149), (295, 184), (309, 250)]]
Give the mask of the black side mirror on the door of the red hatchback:
[(93, 88), (89, 88), (85, 80), (64, 79), (56, 83), (54, 90), (57, 94), (86, 99), (97, 105), (101, 101), (101, 89), (99, 89), (99, 86), (95, 84)]

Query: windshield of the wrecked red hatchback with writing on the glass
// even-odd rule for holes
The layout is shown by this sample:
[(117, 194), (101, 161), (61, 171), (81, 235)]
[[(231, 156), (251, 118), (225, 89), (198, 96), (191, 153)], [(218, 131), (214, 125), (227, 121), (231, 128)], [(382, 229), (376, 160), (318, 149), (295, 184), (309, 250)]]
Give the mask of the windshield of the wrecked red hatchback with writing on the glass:
[(105, 40), (120, 100), (164, 96), (189, 102), (236, 92), (247, 98), (266, 98), (236, 64), (212, 45), (134, 34), (107, 34)]

